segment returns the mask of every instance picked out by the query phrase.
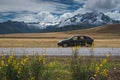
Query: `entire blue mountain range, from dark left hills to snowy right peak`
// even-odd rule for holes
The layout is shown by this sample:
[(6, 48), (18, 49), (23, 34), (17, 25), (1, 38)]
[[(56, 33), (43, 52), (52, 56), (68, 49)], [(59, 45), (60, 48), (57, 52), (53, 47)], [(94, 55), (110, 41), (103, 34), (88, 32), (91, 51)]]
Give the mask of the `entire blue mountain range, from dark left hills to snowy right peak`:
[(66, 19), (59, 20), (58, 23), (49, 22), (48, 24), (41, 23), (41, 21), (25, 23), (10, 20), (1, 22), (0, 34), (70, 31), (116, 23), (120, 23), (120, 21), (113, 20), (104, 13), (87, 12), (85, 14), (78, 13)]

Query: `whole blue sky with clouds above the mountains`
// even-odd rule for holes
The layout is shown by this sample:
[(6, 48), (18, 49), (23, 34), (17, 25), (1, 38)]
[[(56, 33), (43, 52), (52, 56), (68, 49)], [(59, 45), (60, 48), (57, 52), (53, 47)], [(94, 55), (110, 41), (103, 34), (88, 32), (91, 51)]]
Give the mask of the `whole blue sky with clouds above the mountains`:
[(88, 11), (100, 11), (120, 20), (120, 0), (0, 0), (0, 22), (54, 22)]

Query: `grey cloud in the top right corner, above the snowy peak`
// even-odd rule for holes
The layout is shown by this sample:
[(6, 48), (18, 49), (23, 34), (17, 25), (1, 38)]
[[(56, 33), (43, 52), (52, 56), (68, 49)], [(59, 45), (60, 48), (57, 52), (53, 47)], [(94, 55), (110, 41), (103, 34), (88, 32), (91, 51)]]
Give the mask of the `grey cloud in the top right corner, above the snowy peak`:
[(84, 8), (88, 10), (110, 11), (120, 5), (119, 0), (88, 0)]

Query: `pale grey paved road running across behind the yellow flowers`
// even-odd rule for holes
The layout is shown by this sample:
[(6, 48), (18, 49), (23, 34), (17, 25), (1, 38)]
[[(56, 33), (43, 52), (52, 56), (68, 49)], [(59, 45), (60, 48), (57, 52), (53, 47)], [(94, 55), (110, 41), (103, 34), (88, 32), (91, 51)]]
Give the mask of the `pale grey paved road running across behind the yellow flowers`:
[[(41, 55), (46, 53), (49, 56), (70, 56), (73, 54), (72, 48), (0, 48), (0, 54), (9, 55), (11, 52), (14, 52), (15, 55)], [(80, 48), (78, 50), (78, 55), (95, 55), (95, 56), (104, 56), (106, 54), (111, 56), (120, 56), (120, 48)]]

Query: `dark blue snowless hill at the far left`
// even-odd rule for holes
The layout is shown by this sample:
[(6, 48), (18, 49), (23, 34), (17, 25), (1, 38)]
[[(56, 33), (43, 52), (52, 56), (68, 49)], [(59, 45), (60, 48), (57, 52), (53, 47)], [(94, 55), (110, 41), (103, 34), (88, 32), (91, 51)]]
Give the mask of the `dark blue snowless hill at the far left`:
[(32, 32), (38, 32), (38, 29), (30, 27), (24, 22), (7, 21), (0, 23), (0, 34), (32, 33)]

